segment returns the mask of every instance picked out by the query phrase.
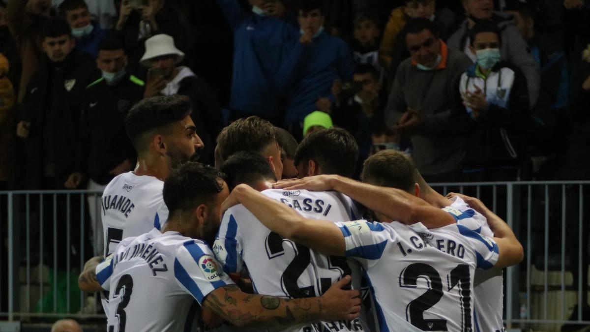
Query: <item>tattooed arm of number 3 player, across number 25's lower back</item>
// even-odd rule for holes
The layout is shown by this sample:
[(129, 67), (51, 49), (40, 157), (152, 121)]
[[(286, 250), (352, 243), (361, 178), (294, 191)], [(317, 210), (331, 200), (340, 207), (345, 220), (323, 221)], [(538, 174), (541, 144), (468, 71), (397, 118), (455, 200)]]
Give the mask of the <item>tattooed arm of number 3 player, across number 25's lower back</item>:
[(360, 298), (358, 291), (342, 289), (349, 281), (350, 276), (342, 278), (322, 297), (298, 299), (246, 294), (236, 285), (227, 285), (209, 293), (203, 301), (203, 307), (211, 309), (238, 327), (350, 320), (358, 317)]

